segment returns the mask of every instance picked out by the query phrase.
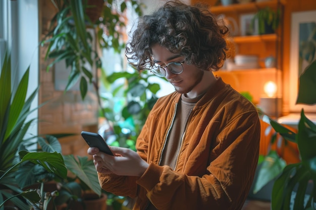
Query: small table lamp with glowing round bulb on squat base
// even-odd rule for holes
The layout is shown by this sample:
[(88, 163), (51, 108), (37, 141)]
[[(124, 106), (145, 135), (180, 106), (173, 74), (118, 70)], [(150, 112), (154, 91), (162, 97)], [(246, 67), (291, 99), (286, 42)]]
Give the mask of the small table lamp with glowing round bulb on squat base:
[(264, 85), (265, 97), (260, 98), (260, 108), (265, 114), (279, 117), (282, 113), (282, 98), (277, 98), (278, 87), (275, 82), (268, 81)]

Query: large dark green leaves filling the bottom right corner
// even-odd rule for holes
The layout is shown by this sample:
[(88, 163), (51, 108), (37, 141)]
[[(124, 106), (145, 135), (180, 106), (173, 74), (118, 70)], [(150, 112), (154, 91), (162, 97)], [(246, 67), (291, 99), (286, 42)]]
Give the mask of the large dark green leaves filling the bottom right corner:
[[(276, 129), (278, 132), (278, 130)], [(293, 210), (316, 209), (316, 125), (301, 111), (301, 119), (296, 135), (301, 162), (286, 166), (276, 180), (272, 190), (272, 209), (292, 209), (291, 202), (294, 196)], [(313, 184), (311, 184), (313, 183)], [(307, 186), (311, 186), (311, 194), (307, 195)], [(296, 188), (296, 190), (294, 190)]]

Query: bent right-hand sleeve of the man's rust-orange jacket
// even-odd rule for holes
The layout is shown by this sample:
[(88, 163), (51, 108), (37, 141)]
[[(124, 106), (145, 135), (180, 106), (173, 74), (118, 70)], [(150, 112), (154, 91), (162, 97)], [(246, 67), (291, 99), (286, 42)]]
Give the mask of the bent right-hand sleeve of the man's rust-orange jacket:
[(203, 176), (150, 163), (137, 183), (157, 209), (241, 209), (257, 166), (259, 138), (257, 113), (241, 114), (219, 131), (220, 144), (213, 149), (218, 155)]

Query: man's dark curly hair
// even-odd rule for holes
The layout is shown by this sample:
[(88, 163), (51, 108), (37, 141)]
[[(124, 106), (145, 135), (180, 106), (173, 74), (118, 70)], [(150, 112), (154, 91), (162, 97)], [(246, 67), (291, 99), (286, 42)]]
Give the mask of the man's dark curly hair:
[(218, 24), (216, 16), (202, 4), (167, 2), (152, 15), (140, 17), (132, 35), (125, 54), (138, 70), (153, 64), (154, 44), (183, 55), (188, 64), (212, 71), (223, 66), (228, 50), (228, 28)]

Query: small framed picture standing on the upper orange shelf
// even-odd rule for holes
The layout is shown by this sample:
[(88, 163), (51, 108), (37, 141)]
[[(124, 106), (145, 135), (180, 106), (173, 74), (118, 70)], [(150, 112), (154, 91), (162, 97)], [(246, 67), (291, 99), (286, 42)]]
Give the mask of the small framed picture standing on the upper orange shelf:
[(254, 17), (253, 14), (245, 14), (240, 16), (240, 36), (258, 35), (258, 21), (255, 20), (254, 27), (251, 27), (251, 22)]

